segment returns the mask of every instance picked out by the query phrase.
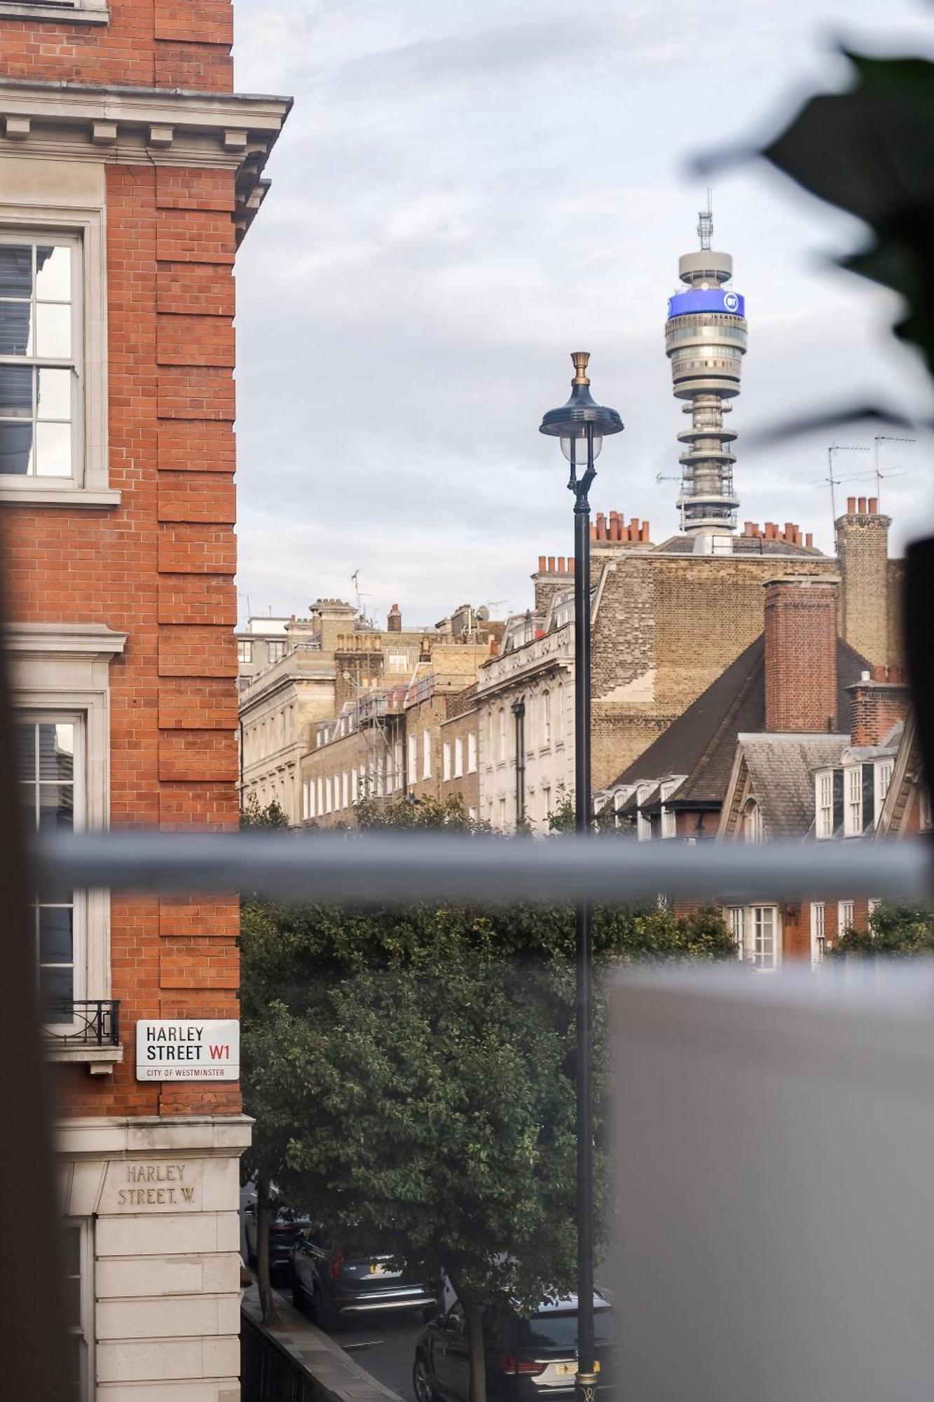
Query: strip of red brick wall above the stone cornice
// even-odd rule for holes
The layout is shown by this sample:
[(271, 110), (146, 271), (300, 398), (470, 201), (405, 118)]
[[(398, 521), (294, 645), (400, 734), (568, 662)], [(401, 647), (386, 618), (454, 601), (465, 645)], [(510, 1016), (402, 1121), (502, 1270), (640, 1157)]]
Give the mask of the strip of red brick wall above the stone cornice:
[(3, 20), (3, 76), (233, 91), (230, 0), (109, 0), (108, 24)]

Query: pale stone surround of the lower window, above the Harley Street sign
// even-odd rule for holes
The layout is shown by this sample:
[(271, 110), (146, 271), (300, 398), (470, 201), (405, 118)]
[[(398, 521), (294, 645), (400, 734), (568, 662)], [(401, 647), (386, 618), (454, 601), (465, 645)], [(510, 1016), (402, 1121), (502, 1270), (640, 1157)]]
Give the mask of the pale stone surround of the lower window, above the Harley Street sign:
[[(104, 624), (10, 624), (7, 648), (13, 665), (13, 704), (31, 716), (81, 721), (84, 735), (84, 826), (109, 826), (109, 665), (122, 653), (126, 635)], [(77, 746), (76, 746), (77, 749)], [(77, 906), (76, 892), (76, 906)], [(111, 998), (111, 900), (107, 890), (83, 896), (83, 956), (76, 960), (76, 998)], [(76, 925), (79, 914), (76, 910)], [(76, 931), (76, 946), (77, 946)], [(95, 1049), (97, 1052), (97, 1049)], [(119, 1049), (94, 1060), (115, 1060)], [(87, 1061), (81, 1047), (49, 1053), (53, 1060)]]

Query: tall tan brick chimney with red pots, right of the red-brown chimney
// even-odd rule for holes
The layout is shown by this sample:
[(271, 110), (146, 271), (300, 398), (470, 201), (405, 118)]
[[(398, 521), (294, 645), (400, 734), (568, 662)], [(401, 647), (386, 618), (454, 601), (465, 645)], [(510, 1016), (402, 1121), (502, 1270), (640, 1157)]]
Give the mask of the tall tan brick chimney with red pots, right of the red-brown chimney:
[(891, 516), (875, 496), (848, 496), (837, 519), (840, 558), (840, 637), (874, 667), (899, 656), (896, 608), (889, 600)]

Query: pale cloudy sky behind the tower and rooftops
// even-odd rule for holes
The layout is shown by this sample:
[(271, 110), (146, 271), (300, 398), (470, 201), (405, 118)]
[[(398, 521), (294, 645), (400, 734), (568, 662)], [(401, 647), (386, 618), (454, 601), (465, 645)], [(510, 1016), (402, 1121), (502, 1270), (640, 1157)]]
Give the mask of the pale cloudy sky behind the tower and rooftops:
[[(571, 498), (537, 426), (592, 352), (607, 440), (592, 502), (676, 526), (682, 428), (663, 352), (697, 245), (693, 157), (774, 133), (844, 86), (841, 39), (934, 52), (909, 0), (237, 0), (237, 87), (295, 97), (238, 264), (241, 611), (352, 597), (432, 622), (524, 608), (569, 554)], [(714, 22), (711, 22), (711, 17)], [(898, 304), (834, 271), (860, 226), (749, 163), (715, 178), (750, 348), (735, 405), (740, 522), (830, 541), (829, 435), (753, 429), (860, 395), (930, 409)], [(871, 430), (841, 443), (868, 446)], [(903, 544), (934, 517), (930, 444), (886, 444)], [(871, 453), (837, 458), (868, 471)], [(868, 494), (869, 481), (847, 491)], [(844, 491), (841, 491), (844, 495)]]

